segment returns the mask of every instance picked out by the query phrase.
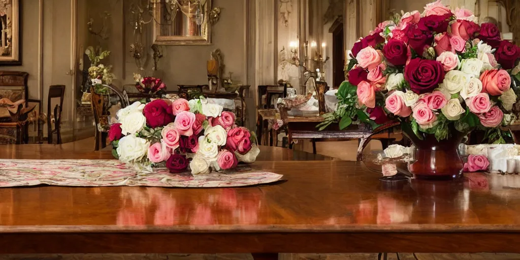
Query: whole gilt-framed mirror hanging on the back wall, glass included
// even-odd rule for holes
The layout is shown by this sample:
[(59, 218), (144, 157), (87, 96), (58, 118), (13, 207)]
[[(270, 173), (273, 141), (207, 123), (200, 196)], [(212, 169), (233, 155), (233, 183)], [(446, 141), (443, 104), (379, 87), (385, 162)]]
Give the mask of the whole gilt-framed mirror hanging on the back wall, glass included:
[(211, 44), (211, 0), (152, 0), (154, 44)]

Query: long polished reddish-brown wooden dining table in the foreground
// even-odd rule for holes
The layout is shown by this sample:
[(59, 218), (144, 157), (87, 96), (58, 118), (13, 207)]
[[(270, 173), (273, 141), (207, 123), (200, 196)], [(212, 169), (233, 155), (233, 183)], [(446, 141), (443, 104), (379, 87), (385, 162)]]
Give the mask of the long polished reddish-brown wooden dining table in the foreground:
[[(110, 151), (33, 146), (1, 147), (0, 158), (111, 158)], [(0, 254), (520, 253), (520, 176), (385, 183), (362, 162), (278, 147), (261, 147), (252, 167), (283, 180), (242, 188), (0, 189)]]

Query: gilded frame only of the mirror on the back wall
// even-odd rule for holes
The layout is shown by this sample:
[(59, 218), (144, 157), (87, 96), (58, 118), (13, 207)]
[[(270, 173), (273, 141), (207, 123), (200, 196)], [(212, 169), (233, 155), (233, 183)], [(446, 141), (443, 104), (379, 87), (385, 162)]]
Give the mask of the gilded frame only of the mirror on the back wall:
[[(201, 0), (204, 2), (204, 0)], [(155, 0), (158, 2), (157, 4), (153, 4), (153, 18), (155, 19), (155, 23), (153, 26), (153, 44), (157, 45), (210, 45), (211, 43), (211, 22), (210, 22), (210, 13), (211, 13), (211, 2), (212, 0), (206, 0), (204, 4), (204, 21), (202, 22), (205, 27), (204, 32), (201, 36), (164, 36), (160, 34), (160, 22), (161, 21), (161, 0)], [(181, 14), (180, 10), (178, 11)]]

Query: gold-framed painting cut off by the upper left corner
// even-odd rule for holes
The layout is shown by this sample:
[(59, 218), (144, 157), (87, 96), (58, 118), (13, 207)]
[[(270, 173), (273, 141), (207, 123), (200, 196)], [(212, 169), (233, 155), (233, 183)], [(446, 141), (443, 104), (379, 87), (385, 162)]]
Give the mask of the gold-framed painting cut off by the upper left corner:
[(0, 0), (0, 66), (22, 64), (19, 0)]

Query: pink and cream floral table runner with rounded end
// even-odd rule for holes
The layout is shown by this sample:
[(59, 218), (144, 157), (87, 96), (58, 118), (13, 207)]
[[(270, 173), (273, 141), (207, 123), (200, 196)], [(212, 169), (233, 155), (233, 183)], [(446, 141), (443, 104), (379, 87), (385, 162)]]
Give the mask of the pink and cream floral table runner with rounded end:
[(272, 183), (283, 175), (237, 168), (233, 172), (171, 174), (166, 168), (138, 172), (118, 160), (0, 159), (0, 187), (34, 186), (150, 186), (239, 187)]

